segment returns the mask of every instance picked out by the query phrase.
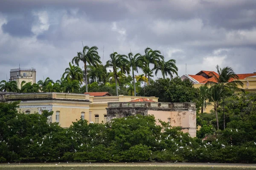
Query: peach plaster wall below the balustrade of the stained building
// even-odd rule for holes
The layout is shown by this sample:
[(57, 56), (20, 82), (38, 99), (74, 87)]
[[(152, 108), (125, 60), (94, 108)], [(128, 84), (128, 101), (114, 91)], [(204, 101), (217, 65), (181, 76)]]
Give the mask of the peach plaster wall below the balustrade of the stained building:
[[(148, 111), (148, 115), (154, 115), (155, 119), (169, 122), (171, 126), (180, 126), (184, 133), (196, 137), (196, 112), (195, 111)], [(157, 121), (157, 125), (161, 125)]]

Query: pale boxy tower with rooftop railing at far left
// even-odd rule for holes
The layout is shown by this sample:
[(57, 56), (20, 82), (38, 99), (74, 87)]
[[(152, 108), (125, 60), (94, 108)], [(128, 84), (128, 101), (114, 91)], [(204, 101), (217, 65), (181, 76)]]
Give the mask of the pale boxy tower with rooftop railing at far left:
[(16, 81), (17, 86), (20, 89), (22, 81), (25, 81), (26, 83), (32, 82), (32, 84), (36, 83), (35, 76), (36, 76), (35, 68), (15, 68), (15, 69), (11, 69), (9, 80)]

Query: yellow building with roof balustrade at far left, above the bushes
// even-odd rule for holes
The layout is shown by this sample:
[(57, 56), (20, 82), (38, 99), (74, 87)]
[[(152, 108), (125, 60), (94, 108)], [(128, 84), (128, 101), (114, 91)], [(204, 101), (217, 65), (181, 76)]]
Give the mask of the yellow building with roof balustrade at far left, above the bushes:
[(89, 95), (67, 93), (0, 93), (4, 102), (20, 101), (21, 113), (41, 114), (43, 110), (53, 111), (49, 122), (59, 122), (61, 127), (70, 127), (76, 119), (89, 119)]

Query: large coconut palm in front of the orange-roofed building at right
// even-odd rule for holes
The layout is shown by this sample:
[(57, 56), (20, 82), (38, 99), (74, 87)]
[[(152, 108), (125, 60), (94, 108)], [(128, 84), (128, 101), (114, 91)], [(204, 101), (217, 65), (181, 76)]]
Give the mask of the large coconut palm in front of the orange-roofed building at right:
[[(233, 71), (231, 67), (224, 67), (221, 69), (217, 65), (216, 68), (217, 68), (218, 75), (215, 75), (212, 72), (210, 73), (212, 77), (215, 78), (216, 82), (207, 82), (206, 85), (212, 85), (212, 87), (209, 90), (210, 91), (209, 102), (214, 103), (214, 111), (217, 119), (217, 129), (219, 129), (218, 115), (217, 115), (217, 108), (219, 106), (219, 103), (221, 101), (223, 102), (224, 98), (230, 95), (231, 90), (244, 92), (244, 89), (238, 88), (238, 85), (243, 87), (243, 83), (239, 81), (239, 77), (236, 75), (236, 73)], [(223, 102), (223, 108), (224, 108), (224, 102)]]

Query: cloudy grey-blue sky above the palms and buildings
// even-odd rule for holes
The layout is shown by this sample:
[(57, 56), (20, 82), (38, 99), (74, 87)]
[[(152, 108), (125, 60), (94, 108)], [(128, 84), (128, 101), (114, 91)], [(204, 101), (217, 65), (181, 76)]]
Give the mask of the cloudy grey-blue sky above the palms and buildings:
[[(0, 80), (36, 68), (59, 79), (84, 45), (111, 52), (146, 47), (176, 59), (178, 74), (230, 66), (256, 71), (256, 0), (1, 0)], [(102, 59), (103, 60), (103, 59)], [(158, 75), (158, 77), (161, 77)]]

